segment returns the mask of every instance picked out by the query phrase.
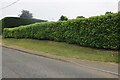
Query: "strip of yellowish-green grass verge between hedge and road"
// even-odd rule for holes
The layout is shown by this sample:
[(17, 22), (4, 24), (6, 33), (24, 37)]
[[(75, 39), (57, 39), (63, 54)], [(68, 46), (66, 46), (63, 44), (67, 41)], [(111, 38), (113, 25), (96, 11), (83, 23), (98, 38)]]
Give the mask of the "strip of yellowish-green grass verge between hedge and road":
[(112, 50), (108, 51), (86, 48), (64, 42), (54, 42), (48, 40), (6, 38), (3, 39), (2, 42), (7, 46), (18, 46), (24, 49), (38, 52), (42, 51), (52, 55), (68, 58), (118, 63), (118, 52)]

